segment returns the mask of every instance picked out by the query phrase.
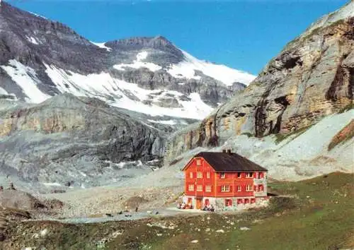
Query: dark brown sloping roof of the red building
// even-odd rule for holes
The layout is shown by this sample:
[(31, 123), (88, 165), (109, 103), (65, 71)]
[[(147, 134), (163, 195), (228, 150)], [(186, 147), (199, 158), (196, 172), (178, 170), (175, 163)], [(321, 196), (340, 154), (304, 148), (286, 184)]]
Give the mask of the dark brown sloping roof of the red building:
[(237, 153), (200, 152), (194, 157), (203, 157), (216, 172), (268, 171)]

